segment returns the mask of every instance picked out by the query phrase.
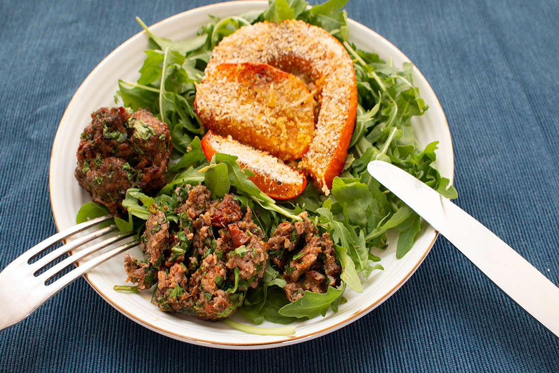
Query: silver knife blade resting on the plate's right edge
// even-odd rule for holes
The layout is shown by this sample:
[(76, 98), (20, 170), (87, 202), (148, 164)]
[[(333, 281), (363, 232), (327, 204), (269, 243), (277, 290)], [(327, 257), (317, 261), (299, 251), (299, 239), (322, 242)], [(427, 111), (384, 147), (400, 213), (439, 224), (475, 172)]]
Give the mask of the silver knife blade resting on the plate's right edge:
[(483, 224), (406, 171), (384, 161), (370, 162), (367, 170), (559, 337), (559, 288), (546, 276)]

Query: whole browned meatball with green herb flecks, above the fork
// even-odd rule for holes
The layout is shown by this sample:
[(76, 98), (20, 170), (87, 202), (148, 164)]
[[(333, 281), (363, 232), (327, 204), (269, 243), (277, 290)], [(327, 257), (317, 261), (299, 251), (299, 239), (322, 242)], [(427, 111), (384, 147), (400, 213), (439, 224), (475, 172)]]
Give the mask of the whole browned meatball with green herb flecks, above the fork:
[(74, 175), (94, 202), (119, 214), (126, 189), (151, 195), (165, 185), (173, 147), (170, 132), (144, 109), (101, 108), (91, 118), (81, 136)]

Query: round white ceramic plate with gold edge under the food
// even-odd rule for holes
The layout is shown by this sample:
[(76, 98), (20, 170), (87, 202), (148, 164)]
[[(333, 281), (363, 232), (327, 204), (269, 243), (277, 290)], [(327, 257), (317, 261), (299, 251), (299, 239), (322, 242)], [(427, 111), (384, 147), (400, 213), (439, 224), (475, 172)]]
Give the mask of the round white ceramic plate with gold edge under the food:
[[(158, 36), (182, 40), (195, 36), (198, 28), (209, 21), (208, 15), (218, 17), (238, 15), (254, 9), (263, 9), (266, 6), (266, 1), (215, 4), (167, 18), (152, 26), (151, 30)], [(402, 63), (409, 61), (394, 45), (369, 28), (354, 21), (349, 21), (349, 28), (350, 41), (359, 49), (375, 52), (383, 59), (392, 57), (395, 65), (400, 67)], [(103, 106), (114, 106), (113, 96), (118, 89), (119, 79), (131, 81), (138, 79), (138, 70), (143, 64), (146, 49), (148, 49), (148, 36), (144, 31), (119, 46), (89, 74), (64, 113), (56, 132), (50, 162), (51, 203), (55, 222), (60, 230), (74, 225), (80, 206), (91, 201), (89, 195), (74, 179), (75, 152), (83, 128), (91, 121), (89, 114)], [(439, 141), (437, 167), (442, 175), (452, 180), (454, 162), (446, 118), (433, 90), (417, 69), (414, 69), (413, 78), (421, 97), (429, 105), (429, 110), (423, 116), (414, 118), (416, 136), (422, 146), (435, 140)], [(382, 258), (381, 264), (385, 270), (373, 272), (371, 277), (364, 281), (363, 293), (359, 294), (348, 289), (344, 294), (348, 302), (340, 305), (338, 313), (330, 310), (326, 317), (319, 315), (310, 321), (296, 323), (296, 334), (289, 337), (246, 334), (231, 329), (223, 323), (203, 322), (180, 314), (164, 313), (150, 303), (150, 291), (145, 291), (143, 294), (114, 291), (113, 285), (124, 284), (126, 279), (122, 256), (117, 256), (97, 267), (86, 278), (97, 293), (121, 313), (165, 336), (196, 345), (221, 348), (285, 346), (323, 336), (371, 312), (410, 278), (425, 259), (436, 237), (437, 233), (433, 228), (423, 224), (414, 247), (400, 260), (395, 257), (396, 245), (392, 238), (385, 251), (375, 253)], [(131, 254), (141, 256), (138, 248), (132, 250)], [(233, 316), (233, 319), (250, 324), (250, 321), (244, 319), (239, 312)], [(278, 325), (264, 322), (262, 326), (277, 327)]]

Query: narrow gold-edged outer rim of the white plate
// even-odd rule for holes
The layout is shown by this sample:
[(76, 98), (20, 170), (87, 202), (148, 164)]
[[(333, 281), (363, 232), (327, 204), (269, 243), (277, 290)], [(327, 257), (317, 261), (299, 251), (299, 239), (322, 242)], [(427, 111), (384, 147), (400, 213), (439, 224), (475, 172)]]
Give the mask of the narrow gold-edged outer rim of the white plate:
[[(209, 5), (206, 5), (206, 6), (192, 8), (192, 9), (188, 9), (187, 11), (177, 13), (176, 15), (170, 16), (168, 18), (165, 18), (164, 20), (161, 20), (157, 23), (154, 23), (154, 25), (151, 25), (148, 28), (151, 30), (151, 28), (158, 27), (159, 25), (162, 25), (164, 23), (172, 22), (175, 18), (181, 18), (181, 17), (187, 16), (189, 13), (200, 12), (200, 11), (203, 11), (205, 9), (213, 9), (213, 8), (217, 8), (217, 7), (221, 7), (221, 6), (230, 6), (230, 5), (233, 5), (233, 4), (245, 4), (245, 5), (254, 5), (255, 7), (256, 6), (266, 7), (268, 2), (266, 0), (264, 0), (264, 1), (260, 1), (260, 0), (239, 0), (239, 1), (230, 1), (230, 2), (220, 2), (220, 3), (209, 4)], [(390, 49), (393, 49), (393, 50), (397, 51), (401, 55), (402, 59), (404, 59), (405, 61), (408, 61), (409, 63), (412, 63), (411, 60), (402, 51), (400, 51), (400, 49), (398, 49), (394, 44), (392, 44), (390, 41), (385, 39), (385, 37), (381, 36), (380, 34), (378, 34), (375, 31), (371, 30), (371, 28), (369, 28), (367, 26), (364, 26), (362, 23), (359, 23), (357, 21), (352, 20), (351, 18), (348, 18), (348, 23), (350, 23), (352, 25), (352, 27), (362, 28), (364, 31), (368, 32), (369, 34), (375, 35), (381, 42), (383, 42), (384, 44), (389, 46)], [(125, 42), (123, 42), (121, 45), (116, 47), (116, 49), (114, 49), (105, 58), (103, 58), (103, 60), (99, 64), (97, 64), (97, 66), (87, 75), (87, 77), (79, 85), (79, 87), (76, 90), (76, 92), (74, 93), (72, 99), (70, 99), (70, 102), (68, 103), (68, 106), (65, 109), (63, 116), (60, 119), (58, 128), (56, 130), (56, 135), (55, 135), (55, 138), (54, 138), (54, 141), (53, 141), (53, 147), (52, 147), (52, 151), (51, 151), (50, 165), (49, 165), (49, 194), (50, 194), (50, 196), (53, 195), (54, 187), (55, 187), (54, 186), (55, 181), (53, 180), (53, 177), (52, 177), (52, 170), (53, 170), (54, 162), (55, 162), (54, 156), (55, 156), (55, 151), (56, 151), (56, 143), (58, 142), (58, 140), (61, 136), (61, 126), (60, 125), (65, 121), (65, 118), (67, 117), (67, 114), (69, 113), (70, 108), (72, 108), (76, 104), (77, 96), (84, 89), (84, 87), (86, 87), (86, 85), (92, 79), (92, 76), (98, 70), (100, 70), (102, 68), (102, 66), (105, 65), (107, 63), (107, 61), (110, 60), (113, 57), (113, 55), (117, 54), (119, 51), (124, 49), (131, 42), (135, 41), (136, 39), (139, 39), (140, 37), (143, 37), (143, 35), (145, 35), (145, 34), (146, 34), (145, 30), (142, 30), (142, 31), (138, 32), (137, 34), (135, 34), (134, 36), (130, 37)], [(448, 161), (449, 161), (449, 175), (447, 177), (449, 178), (450, 183), (452, 185), (453, 180), (454, 180), (454, 151), (453, 151), (453, 146), (452, 146), (451, 133), (450, 133), (450, 129), (448, 127), (448, 122), (447, 122), (446, 116), (444, 114), (444, 111), (442, 109), (442, 106), (440, 105), (440, 102), (437, 98), (437, 95), (435, 95), (435, 93), (433, 91), (433, 88), (430, 86), (428, 80), (425, 79), (423, 74), (421, 74), (421, 71), (415, 65), (414, 65), (414, 70), (420, 76), (420, 78), (423, 79), (425, 83), (427, 83), (427, 89), (429, 91), (429, 94), (432, 96), (432, 98), (434, 100), (434, 103), (435, 103), (435, 108), (440, 113), (440, 117), (442, 119), (444, 132), (446, 134), (447, 141), (448, 141), (448, 152), (449, 152), (449, 159), (448, 159)], [(56, 213), (56, 208), (55, 208), (55, 205), (54, 205), (54, 199), (52, 197), (50, 198), (50, 204), (51, 204), (51, 210), (53, 212), (54, 223), (55, 223), (56, 228), (58, 229), (58, 231), (60, 231), (60, 223), (57, 219), (58, 214)], [(207, 347), (216, 347), (216, 348), (271, 348), (271, 347), (280, 347), (280, 346), (285, 346), (285, 345), (291, 344), (291, 343), (300, 343), (300, 342), (304, 342), (304, 341), (307, 341), (307, 340), (310, 340), (310, 339), (318, 338), (320, 336), (323, 336), (324, 334), (328, 334), (328, 333), (333, 332), (333, 331), (335, 331), (339, 328), (347, 326), (349, 323), (357, 321), (359, 318), (361, 318), (364, 315), (366, 315), (367, 313), (371, 312), (373, 309), (378, 307), (378, 305), (382, 304), (387, 299), (389, 299), (392, 294), (394, 294), (397, 290), (399, 290), (401, 288), (401, 286), (404, 285), (404, 283), (406, 281), (408, 281), (408, 279), (411, 277), (411, 275), (414, 274), (414, 272), (419, 268), (421, 263), (423, 263), (423, 261), (425, 260), (425, 257), (427, 257), (427, 255), (429, 254), (431, 248), (434, 245), (434, 242), (437, 240), (437, 237), (438, 237), (438, 232), (434, 231), (433, 237), (431, 238), (428, 247), (425, 249), (423, 255), (419, 258), (419, 260), (415, 263), (415, 265), (410, 269), (410, 271), (405, 276), (403, 276), (400, 279), (400, 281), (396, 285), (394, 285), (390, 290), (386, 291), (386, 293), (384, 295), (382, 295), (382, 297), (378, 298), (376, 300), (376, 302), (368, 304), (367, 307), (359, 309), (357, 312), (348, 314), (347, 317), (345, 317), (343, 320), (341, 320), (337, 323), (334, 323), (334, 324), (330, 324), (330, 325), (328, 325), (324, 328), (320, 328), (318, 331), (313, 331), (313, 332), (309, 332), (309, 333), (305, 333), (305, 334), (301, 334), (301, 335), (297, 335), (297, 336), (282, 336), (283, 339), (274, 340), (274, 341), (230, 343), (230, 342), (214, 341), (214, 340), (211, 340), (211, 339), (195, 338), (195, 337), (185, 336), (184, 334), (175, 333), (173, 331), (169, 331), (168, 329), (164, 329), (162, 327), (159, 327), (159, 326), (155, 325), (154, 323), (151, 323), (151, 322), (147, 321), (146, 319), (143, 319), (143, 318), (139, 317), (138, 315), (131, 314), (131, 313), (127, 312), (119, 304), (113, 303), (108, 297), (106, 297), (105, 293), (103, 293), (103, 291), (100, 290), (93, 283), (93, 281), (89, 279), (88, 274), (85, 274), (83, 277), (86, 279), (87, 283), (96, 291), (96, 293), (99, 294), (103, 300), (105, 300), (105, 302), (110, 304), (113, 308), (118, 310), (121, 314), (124, 314), (126, 317), (128, 317), (132, 321), (135, 321), (135, 322), (141, 324), (142, 326), (150, 329), (151, 331), (155, 331), (155, 332), (157, 332), (159, 334), (162, 334), (164, 336), (167, 336), (167, 337), (170, 337), (170, 338), (173, 338), (173, 339), (177, 339), (177, 340), (183, 341), (183, 342), (193, 343), (193, 344), (196, 344), (196, 345), (207, 346)]]

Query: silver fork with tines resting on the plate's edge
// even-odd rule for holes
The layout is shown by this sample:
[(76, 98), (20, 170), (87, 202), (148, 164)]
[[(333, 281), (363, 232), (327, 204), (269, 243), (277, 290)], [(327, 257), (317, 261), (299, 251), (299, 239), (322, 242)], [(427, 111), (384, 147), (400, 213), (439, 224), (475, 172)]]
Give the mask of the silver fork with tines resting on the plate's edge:
[[(43, 252), (67, 240), (67, 238), (112, 218), (113, 216), (111, 215), (94, 218), (56, 233), (54, 236), (47, 238), (30, 248), (30, 250), (24, 252), (0, 272), (0, 331), (21, 322), (56, 293), (77, 280), (80, 276), (91, 271), (94, 267), (111, 259), (113, 256), (121, 254), (131, 247), (139, 245), (140, 241), (135, 240), (112, 248), (110, 251), (94, 257), (82, 265), (75, 266), (74, 269), (70, 270), (67, 274), (53, 281), (61, 271), (77, 264), (78, 261), (84, 257), (102, 248), (111, 246), (113, 243), (125, 240), (125, 238), (135, 233), (119, 233), (118, 235), (111, 236), (101, 242), (83, 248), (76, 254), (71, 253), (72, 250), (88, 242), (117, 231), (119, 228), (116, 224), (112, 224), (111, 226), (98, 229), (97, 231), (76, 238), (74, 241), (65, 243), (65, 245), (55, 248), (45, 256), (34, 261), (34, 259)], [(70, 253), (68, 257), (48, 267), (51, 263), (64, 257), (68, 253)]]

